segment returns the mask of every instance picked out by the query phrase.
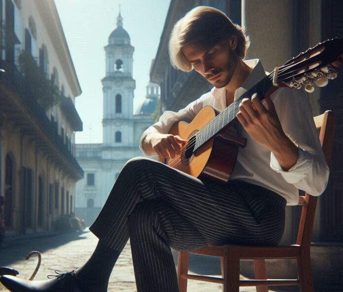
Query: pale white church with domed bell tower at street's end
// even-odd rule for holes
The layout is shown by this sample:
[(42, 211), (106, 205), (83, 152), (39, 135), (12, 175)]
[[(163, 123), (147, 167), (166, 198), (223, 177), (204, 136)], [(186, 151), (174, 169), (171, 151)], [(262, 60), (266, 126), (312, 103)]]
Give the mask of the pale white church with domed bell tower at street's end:
[(149, 83), (145, 101), (134, 114), (134, 47), (123, 28), (119, 14), (117, 28), (110, 34), (103, 84), (103, 144), (76, 144), (76, 158), (85, 172), (76, 184), (75, 212), (86, 224), (101, 210), (126, 161), (142, 156), (138, 144), (144, 130), (153, 121), (158, 85)]

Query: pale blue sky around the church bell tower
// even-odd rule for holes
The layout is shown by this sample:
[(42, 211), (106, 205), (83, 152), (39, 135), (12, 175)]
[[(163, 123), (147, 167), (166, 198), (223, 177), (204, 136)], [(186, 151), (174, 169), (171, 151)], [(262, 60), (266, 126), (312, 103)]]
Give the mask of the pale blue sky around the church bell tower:
[(103, 89), (105, 51), (116, 29), (119, 5), (123, 28), (135, 47), (134, 108), (146, 95), (151, 60), (155, 58), (170, 0), (55, 0), (82, 93), (75, 107), (83, 122), (76, 143), (103, 142)]

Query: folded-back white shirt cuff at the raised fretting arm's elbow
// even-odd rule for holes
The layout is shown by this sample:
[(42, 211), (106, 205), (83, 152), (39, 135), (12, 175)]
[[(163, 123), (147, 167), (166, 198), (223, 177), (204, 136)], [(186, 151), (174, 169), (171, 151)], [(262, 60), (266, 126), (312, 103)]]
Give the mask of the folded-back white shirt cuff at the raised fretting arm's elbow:
[(312, 169), (311, 154), (300, 146), (298, 146), (298, 153), (299, 157), (297, 163), (293, 165), (288, 171), (285, 171), (278, 163), (274, 153), (271, 152), (271, 168), (277, 173), (281, 174), (287, 183), (298, 183)]

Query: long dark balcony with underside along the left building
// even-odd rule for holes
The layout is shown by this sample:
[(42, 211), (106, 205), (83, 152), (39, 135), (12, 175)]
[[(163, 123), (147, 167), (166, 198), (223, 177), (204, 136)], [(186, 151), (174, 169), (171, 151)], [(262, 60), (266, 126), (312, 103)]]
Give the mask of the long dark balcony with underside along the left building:
[[(69, 151), (68, 146), (64, 144), (55, 123), (49, 120), (45, 110), (25, 89), (22, 73), (13, 63), (6, 61), (0, 61), (0, 68), (5, 70), (5, 73), (0, 74), (2, 109), (8, 111), (18, 125), (27, 128), (27, 133), (36, 138), (37, 143), (45, 149), (45, 152), (50, 153), (55, 163), (66, 168), (75, 179), (83, 178), (82, 168)], [(4, 91), (6, 94), (3, 94)], [(6, 95), (10, 99), (6, 98)], [(6, 100), (5, 103), (2, 103), (4, 97)]]

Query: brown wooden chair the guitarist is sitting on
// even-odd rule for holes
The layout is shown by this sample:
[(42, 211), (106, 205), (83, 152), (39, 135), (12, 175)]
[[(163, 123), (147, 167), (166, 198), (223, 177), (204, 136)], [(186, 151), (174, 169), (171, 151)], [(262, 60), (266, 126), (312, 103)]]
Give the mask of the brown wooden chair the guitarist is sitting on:
[[(329, 163), (334, 140), (334, 113), (326, 111), (322, 115), (314, 117), (314, 122), (317, 129), (320, 129), (319, 140), (326, 162)], [(205, 247), (190, 252), (179, 252), (177, 264), (179, 292), (187, 291), (188, 279), (223, 284), (223, 292), (239, 292), (239, 287), (243, 286), (256, 286), (257, 292), (268, 292), (268, 286), (284, 285), (299, 285), (301, 292), (313, 292), (310, 245), (316, 203), (317, 197), (315, 196), (308, 193), (305, 196), (300, 196), (299, 205), (302, 205), (302, 213), (297, 242), (294, 245), (274, 247), (224, 245)], [(220, 257), (223, 278), (188, 274), (189, 253)], [(298, 279), (267, 280), (266, 258), (296, 258)], [(240, 259), (254, 260), (254, 280), (240, 280)]]

